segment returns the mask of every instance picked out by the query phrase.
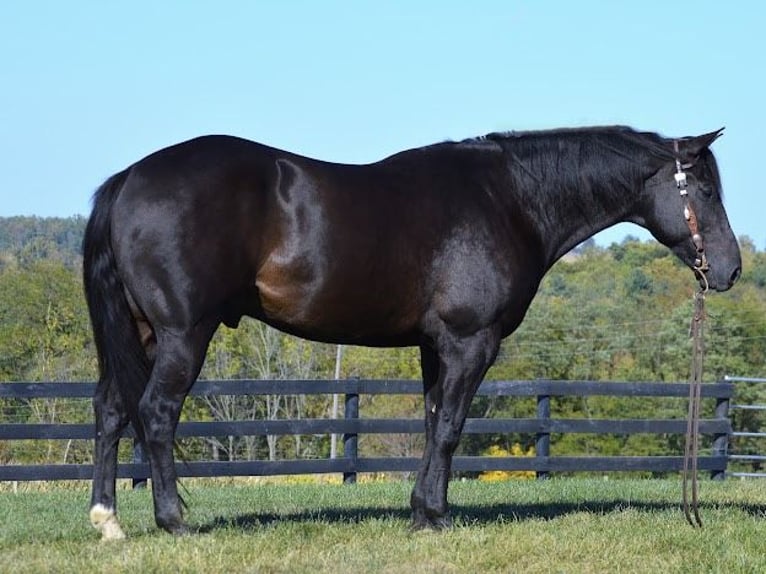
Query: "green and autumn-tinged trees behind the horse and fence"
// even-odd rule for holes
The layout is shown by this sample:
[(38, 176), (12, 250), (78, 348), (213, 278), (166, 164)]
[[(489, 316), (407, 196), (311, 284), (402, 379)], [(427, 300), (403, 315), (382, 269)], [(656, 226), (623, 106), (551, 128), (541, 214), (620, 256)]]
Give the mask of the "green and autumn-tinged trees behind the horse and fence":
[[(81, 242), (86, 220), (0, 218), (0, 380), (95, 380), (97, 364), (82, 295)], [(724, 375), (765, 376), (766, 252), (740, 239), (743, 276), (727, 293), (707, 297), (705, 380)], [(689, 322), (697, 284), (668, 249), (626, 237), (600, 246), (592, 240), (558, 262), (546, 276), (516, 333), (506, 339), (487, 375), (500, 379), (685, 381), (691, 364)], [(202, 378), (333, 378), (336, 348), (303, 341), (252, 320), (221, 327), (211, 342)], [(416, 349), (345, 347), (341, 377), (420, 377)], [(739, 402), (766, 402), (758, 385), (738, 387)], [(418, 397), (363, 397), (366, 417), (422, 416)], [(554, 400), (553, 416), (680, 418), (677, 399), (616, 397)], [(189, 399), (186, 420), (321, 418), (330, 397), (208, 397)], [(532, 399), (477, 398), (470, 416), (533, 417)], [(755, 430), (757, 411), (737, 413), (735, 425)], [(86, 422), (88, 401), (0, 402), (0, 422)], [(534, 436), (466, 435), (463, 454), (528, 452)], [(668, 435), (554, 436), (555, 454), (668, 454), (682, 437)], [(187, 458), (324, 457), (329, 437), (210, 437), (184, 439)], [(755, 450), (742, 442), (738, 451)], [(417, 456), (422, 437), (365, 436), (363, 456)], [(0, 463), (82, 462), (90, 445), (2, 443)], [(128, 456), (123, 453), (121, 456)]]

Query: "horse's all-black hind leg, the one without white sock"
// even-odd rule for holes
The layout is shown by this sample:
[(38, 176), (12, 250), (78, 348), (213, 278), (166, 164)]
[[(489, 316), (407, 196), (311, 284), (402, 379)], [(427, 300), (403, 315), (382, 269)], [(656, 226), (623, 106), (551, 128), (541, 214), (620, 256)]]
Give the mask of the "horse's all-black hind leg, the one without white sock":
[(152, 375), (139, 404), (151, 463), (154, 517), (158, 526), (174, 534), (187, 531), (176, 485), (175, 430), (183, 401), (199, 374), (216, 327), (217, 323), (158, 332)]

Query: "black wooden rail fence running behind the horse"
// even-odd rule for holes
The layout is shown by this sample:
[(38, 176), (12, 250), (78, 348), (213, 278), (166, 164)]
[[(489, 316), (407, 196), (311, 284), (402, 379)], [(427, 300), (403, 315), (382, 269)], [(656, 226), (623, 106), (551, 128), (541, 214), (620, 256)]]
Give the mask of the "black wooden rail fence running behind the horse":
[[(76, 398), (91, 397), (94, 383), (0, 383), (0, 398)], [(699, 459), (700, 470), (722, 479), (727, 465), (727, 441), (732, 431), (728, 418), (734, 386), (731, 382), (705, 384), (702, 396), (715, 401), (714, 417), (700, 423), (700, 432), (713, 439), (710, 455)], [(177, 436), (247, 435), (343, 435), (343, 454), (335, 459), (278, 461), (197, 461), (177, 464), (179, 476), (266, 476), (290, 474), (342, 473), (346, 482), (357, 473), (415, 471), (419, 459), (412, 457), (368, 458), (358, 455), (358, 437), (366, 433), (422, 433), (422, 419), (367, 419), (359, 415), (360, 395), (420, 395), (422, 385), (400, 380), (345, 381), (199, 381), (192, 395), (299, 395), (340, 394), (345, 396), (342, 419), (247, 420), (181, 422)], [(533, 457), (458, 456), (453, 470), (535, 471), (544, 478), (552, 472), (652, 471), (671, 472), (682, 468), (679, 456), (554, 456), (550, 452), (551, 433), (592, 434), (683, 434), (685, 408), (673, 419), (556, 419), (551, 417), (555, 397), (619, 396), (685, 397), (684, 383), (623, 383), (592, 381), (492, 381), (478, 391), (484, 396), (536, 397), (537, 417), (526, 419), (468, 419), (464, 433), (528, 433), (536, 436)], [(20, 439), (92, 439), (89, 424), (0, 424), (0, 441)], [(130, 433), (127, 433), (131, 436)], [(92, 465), (0, 465), (0, 481), (90, 479)], [(119, 478), (144, 480), (149, 475), (146, 462), (123, 463)]]

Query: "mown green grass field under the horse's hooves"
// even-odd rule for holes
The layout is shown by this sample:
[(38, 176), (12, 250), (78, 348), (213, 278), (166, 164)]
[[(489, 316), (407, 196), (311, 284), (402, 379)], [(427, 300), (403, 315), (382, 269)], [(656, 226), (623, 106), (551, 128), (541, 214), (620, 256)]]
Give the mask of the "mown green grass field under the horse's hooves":
[(677, 480), (456, 482), (441, 533), (407, 530), (406, 482), (187, 488), (197, 534), (158, 531), (151, 494), (125, 490), (110, 543), (84, 487), (6, 488), (0, 572), (766, 572), (766, 482), (703, 482), (702, 530)]

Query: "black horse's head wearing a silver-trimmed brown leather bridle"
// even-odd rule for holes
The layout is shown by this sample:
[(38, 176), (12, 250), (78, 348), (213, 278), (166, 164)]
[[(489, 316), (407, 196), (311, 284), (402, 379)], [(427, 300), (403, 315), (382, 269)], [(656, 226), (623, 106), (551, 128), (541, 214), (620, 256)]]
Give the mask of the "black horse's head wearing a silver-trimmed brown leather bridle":
[(709, 149), (722, 131), (665, 140), (672, 159), (645, 181), (648, 203), (637, 220), (695, 271), (703, 287), (717, 291), (729, 289), (742, 271)]

